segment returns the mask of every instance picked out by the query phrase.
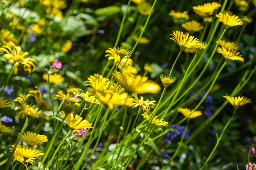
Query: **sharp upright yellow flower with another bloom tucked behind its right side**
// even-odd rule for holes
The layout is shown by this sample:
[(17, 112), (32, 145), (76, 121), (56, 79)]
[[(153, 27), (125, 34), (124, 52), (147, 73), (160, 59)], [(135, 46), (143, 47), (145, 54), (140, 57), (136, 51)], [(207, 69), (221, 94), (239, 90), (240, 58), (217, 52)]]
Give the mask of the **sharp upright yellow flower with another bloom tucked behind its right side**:
[(174, 40), (180, 46), (180, 51), (186, 48), (194, 48), (195, 43), (198, 42), (198, 39), (194, 39), (194, 36), (189, 37), (189, 34), (183, 34), (183, 32), (177, 30), (173, 31), (172, 35), (171, 40)]

